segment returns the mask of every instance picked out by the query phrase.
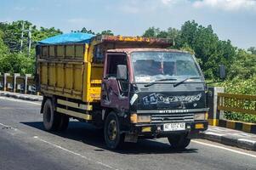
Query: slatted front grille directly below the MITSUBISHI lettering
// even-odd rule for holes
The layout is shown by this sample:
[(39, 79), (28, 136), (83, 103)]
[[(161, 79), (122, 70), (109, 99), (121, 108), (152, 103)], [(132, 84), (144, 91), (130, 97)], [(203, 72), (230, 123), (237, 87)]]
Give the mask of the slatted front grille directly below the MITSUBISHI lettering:
[(151, 123), (193, 122), (194, 114), (155, 114), (151, 115)]

